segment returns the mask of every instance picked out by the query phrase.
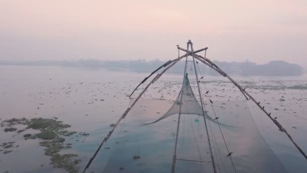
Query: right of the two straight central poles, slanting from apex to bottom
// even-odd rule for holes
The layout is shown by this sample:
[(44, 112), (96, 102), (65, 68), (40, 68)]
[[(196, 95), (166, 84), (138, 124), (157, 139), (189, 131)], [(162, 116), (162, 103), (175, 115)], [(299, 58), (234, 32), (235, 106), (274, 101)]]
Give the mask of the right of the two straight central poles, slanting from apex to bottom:
[(203, 115), (202, 117), (203, 117), (203, 121), (204, 121), (204, 126), (206, 127), (206, 133), (207, 133), (207, 137), (208, 137), (208, 144), (209, 144), (209, 149), (210, 149), (210, 154), (211, 154), (211, 159), (212, 159), (212, 166), (213, 166), (214, 172), (216, 173), (217, 170), (216, 170), (215, 162), (214, 162), (214, 158), (213, 158), (213, 152), (212, 152), (210, 137), (209, 137), (209, 133), (208, 133), (207, 121), (206, 121), (206, 117), (204, 116), (205, 114), (204, 114), (204, 110), (203, 110), (201, 92), (200, 92), (199, 82), (198, 82), (198, 75), (197, 75), (196, 65), (195, 65), (195, 60), (194, 60), (193, 44), (192, 44), (192, 42), (190, 42), (190, 44), (191, 44), (191, 52), (192, 52), (192, 57), (193, 57), (194, 71), (195, 71), (195, 76), (196, 76), (196, 83), (197, 83), (197, 88), (198, 88), (198, 93), (199, 93), (200, 105), (201, 105), (201, 110), (202, 110), (202, 115)]

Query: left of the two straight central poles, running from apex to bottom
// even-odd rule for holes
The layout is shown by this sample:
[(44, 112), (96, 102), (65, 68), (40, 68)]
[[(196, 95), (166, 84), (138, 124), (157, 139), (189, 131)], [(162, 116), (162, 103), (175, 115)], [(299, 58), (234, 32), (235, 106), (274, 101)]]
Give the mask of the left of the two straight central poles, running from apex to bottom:
[[(189, 50), (189, 42), (187, 43), (187, 50)], [(183, 72), (183, 81), (182, 81), (182, 88), (185, 83), (185, 73), (186, 73), (186, 66), (188, 62), (188, 56), (189, 54), (186, 54), (185, 58), (185, 64), (184, 64), (184, 72)], [(176, 142), (175, 142), (175, 149), (174, 149), (174, 155), (173, 155), (173, 163), (172, 163), (172, 173), (175, 172), (175, 167), (176, 167), (176, 153), (177, 153), (177, 143), (178, 143), (178, 134), (179, 134), (179, 124), (180, 124), (180, 115), (181, 115), (181, 105), (182, 105), (182, 88), (180, 91), (181, 98), (180, 98), (180, 106), (179, 106), (179, 114), (178, 114), (178, 123), (177, 123), (177, 134), (176, 134)]]

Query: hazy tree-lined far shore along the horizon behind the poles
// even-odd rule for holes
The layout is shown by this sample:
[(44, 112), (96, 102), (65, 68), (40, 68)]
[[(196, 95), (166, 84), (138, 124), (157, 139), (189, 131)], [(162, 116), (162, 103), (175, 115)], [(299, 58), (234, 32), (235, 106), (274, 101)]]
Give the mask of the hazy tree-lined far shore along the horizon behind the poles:
[[(101, 60), (71, 60), (71, 61), (4, 61), (0, 60), (0, 65), (15, 66), (62, 66), (62, 67), (86, 67), (103, 68), (110, 71), (130, 71), (137, 73), (147, 73), (156, 70), (166, 61), (101, 61)], [(300, 76), (303, 69), (298, 64), (291, 64), (285, 61), (271, 61), (267, 64), (256, 64), (250, 61), (245, 62), (220, 62), (214, 61), (222, 70), (228, 74), (241, 76)], [(177, 63), (170, 73), (181, 74), (184, 61)], [(210, 75), (219, 75), (210, 67), (202, 65), (201, 71)]]

